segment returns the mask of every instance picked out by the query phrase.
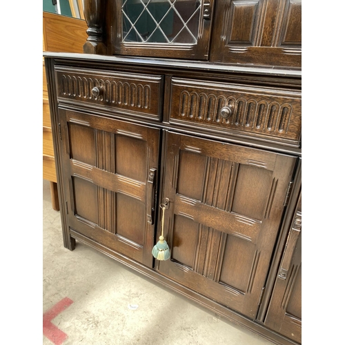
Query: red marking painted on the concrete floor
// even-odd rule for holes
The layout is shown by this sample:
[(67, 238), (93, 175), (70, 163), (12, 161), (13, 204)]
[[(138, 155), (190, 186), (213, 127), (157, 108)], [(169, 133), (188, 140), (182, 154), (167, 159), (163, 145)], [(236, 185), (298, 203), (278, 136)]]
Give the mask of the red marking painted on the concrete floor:
[(46, 311), (46, 313), (43, 314), (43, 335), (45, 335), (55, 345), (61, 345), (66, 340), (67, 335), (57, 328), (57, 326), (52, 324), (51, 321), (72, 303), (72, 299), (65, 297), (55, 304), (55, 306), (52, 306), (49, 311)]

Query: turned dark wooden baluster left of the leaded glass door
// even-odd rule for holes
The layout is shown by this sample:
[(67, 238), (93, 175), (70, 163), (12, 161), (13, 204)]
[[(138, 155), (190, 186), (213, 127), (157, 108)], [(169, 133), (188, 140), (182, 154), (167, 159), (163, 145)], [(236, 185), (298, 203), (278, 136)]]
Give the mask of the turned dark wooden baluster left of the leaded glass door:
[(106, 55), (105, 34), (105, 6), (106, 0), (83, 0), (83, 10), (88, 24), (88, 39), (83, 45), (86, 54)]

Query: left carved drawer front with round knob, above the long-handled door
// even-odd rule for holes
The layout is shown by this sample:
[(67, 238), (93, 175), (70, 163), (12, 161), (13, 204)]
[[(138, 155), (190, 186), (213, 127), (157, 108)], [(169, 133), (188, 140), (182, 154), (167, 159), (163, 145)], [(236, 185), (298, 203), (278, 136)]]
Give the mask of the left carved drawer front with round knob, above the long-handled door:
[(159, 119), (163, 77), (55, 67), (59, 101)]

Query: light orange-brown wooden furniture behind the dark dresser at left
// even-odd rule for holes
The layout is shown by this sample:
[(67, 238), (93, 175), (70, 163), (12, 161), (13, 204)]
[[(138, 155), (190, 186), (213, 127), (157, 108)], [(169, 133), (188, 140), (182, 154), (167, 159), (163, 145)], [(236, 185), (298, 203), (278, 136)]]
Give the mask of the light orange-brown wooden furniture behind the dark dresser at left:
[[(43, 12), (43, 52), (83, 52), (86, 34), (86, 21)], [(52, 126), (43, 59), (43, 179), (50, 181), (52, 208), (59, 210), (57, 173), (55, 170)]]

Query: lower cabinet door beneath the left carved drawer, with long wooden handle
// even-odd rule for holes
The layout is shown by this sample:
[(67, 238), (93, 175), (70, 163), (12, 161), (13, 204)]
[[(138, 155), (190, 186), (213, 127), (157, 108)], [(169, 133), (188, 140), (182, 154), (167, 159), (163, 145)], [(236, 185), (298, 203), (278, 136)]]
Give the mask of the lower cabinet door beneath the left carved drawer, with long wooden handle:
[(159, 130), (59, 109), (68, 225), (152, 267)]

